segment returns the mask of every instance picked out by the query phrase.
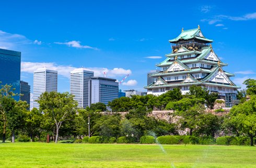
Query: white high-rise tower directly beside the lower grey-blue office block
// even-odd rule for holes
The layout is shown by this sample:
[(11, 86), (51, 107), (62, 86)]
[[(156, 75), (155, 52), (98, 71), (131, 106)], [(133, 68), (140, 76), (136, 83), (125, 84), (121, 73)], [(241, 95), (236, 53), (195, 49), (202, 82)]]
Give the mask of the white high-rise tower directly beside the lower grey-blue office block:
[(84, 109), (89, 106), (89, 80), (94, 72), (85, 68), (77, 68), (70, 72), (70, 93), (75, 95), (74, 100), (78, 101), (78, 107)]

